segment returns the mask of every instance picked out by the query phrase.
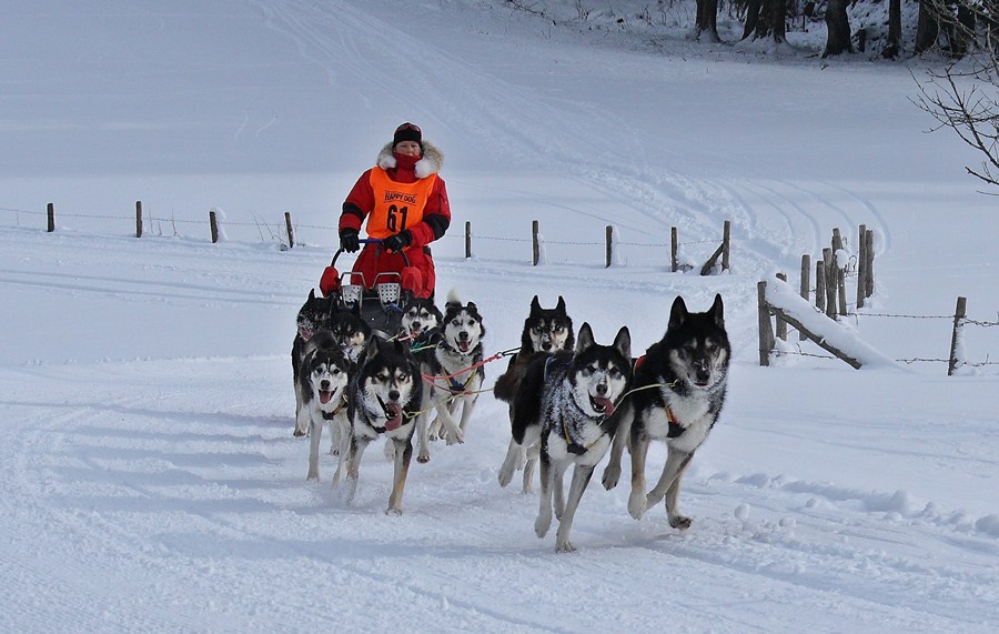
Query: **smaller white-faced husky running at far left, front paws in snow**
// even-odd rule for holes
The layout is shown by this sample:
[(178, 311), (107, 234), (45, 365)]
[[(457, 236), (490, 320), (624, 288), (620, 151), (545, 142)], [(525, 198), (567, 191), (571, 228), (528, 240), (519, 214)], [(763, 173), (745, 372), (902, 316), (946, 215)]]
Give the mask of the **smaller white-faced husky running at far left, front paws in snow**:
[(350, 431), (347, 384), (351, 362), (340, 350), (330, 331), (321, 330), (310, 340), (311, 350), (299, 369), (299, 391), (303, 396), (297, 426), (309, 431), (309, 473), (306, 480), (319, 480), (319, 447), (323, 426), (330, 426), (330, 453), (339, 453)]

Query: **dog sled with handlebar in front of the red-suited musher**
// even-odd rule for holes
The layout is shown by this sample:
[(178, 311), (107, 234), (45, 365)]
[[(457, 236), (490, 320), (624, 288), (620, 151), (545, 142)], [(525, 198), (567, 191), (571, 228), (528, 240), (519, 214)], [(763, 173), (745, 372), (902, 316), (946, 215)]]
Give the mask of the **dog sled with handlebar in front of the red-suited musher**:
[[(380, 243), (381, 240), (360, 242)], [(406, 265), (401, 273), (386, 271), (375, 275), (374, 280), (366, 280), (361, 271), (337, 271), (336, 260), (341, 253), (343, 249), (337, 249), (330, 265), (323, 270), (320, 291), (325, 298), (335, 296), (340, 305), (356, 310), (375, 334), (391, 339), (400, 330), (403, 306), (413, 299), (420, 286), (421, 272), (410, 265), (408, 258), (403, 253)]]

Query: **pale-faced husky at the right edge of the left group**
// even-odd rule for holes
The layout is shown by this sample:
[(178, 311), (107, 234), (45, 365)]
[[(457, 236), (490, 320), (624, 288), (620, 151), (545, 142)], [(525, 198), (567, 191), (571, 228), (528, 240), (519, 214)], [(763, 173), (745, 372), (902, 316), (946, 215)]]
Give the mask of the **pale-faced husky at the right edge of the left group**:
[[(478, 392), (485, 380), (483, 364), (482, 339), (485, 326), (482, 315), (474, 302), (463, 304), (457, 292), (452, 289), (444, 304), (444, 319), (438, 333), (431, 338), (431, 344), (420, 355), (420, 370), (426, 382), (423, 391), (423, 404), (417, 423), (420, 454), (417, 462), (430, 461), (430, 439), (440, 433), (443, 423), (447, 444), (465, 441), (465, 429)], [(461, 423), (456, 423), (454, 414), (462, 407)], [(434, 430), (430, 425), (430, 411), (434, 410), (437, 420)]]

